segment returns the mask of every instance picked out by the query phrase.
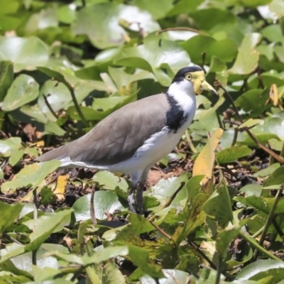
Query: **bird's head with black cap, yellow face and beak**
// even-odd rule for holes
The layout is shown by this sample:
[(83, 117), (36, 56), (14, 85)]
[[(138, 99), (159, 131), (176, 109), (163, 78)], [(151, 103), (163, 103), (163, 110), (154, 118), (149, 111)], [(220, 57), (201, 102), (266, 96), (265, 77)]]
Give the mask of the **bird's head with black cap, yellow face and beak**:
[(179, 84), (192, 84), (195, 94), (201, 94), (203, 90), (211, 91), (214, 94), (218, 94), (217, 91), (205, 81), (205, 74), (201, 67), (190, 66), (184, 67), (178, 71), (173, 78), (173, 83)]

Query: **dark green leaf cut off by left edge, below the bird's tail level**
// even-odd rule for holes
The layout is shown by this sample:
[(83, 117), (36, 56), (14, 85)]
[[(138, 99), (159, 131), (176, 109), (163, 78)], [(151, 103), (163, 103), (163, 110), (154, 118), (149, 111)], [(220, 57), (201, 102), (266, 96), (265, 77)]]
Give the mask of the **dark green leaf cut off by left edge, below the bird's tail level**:
[(20, 203), (9, 205), (0, 201), (0, 235), (18, 218), (22, 207)]

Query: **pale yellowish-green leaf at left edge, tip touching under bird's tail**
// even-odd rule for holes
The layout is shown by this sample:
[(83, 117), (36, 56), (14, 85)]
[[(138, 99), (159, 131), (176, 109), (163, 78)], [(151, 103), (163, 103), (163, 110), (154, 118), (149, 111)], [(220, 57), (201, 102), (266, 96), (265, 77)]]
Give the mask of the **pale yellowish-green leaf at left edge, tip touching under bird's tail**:
[(50, 173), (53, 173), (60, 166), (59, 160), (50, 160), (44, 163), (33, 163), (26, 165), (19, 173), (17, 173), (13, 180), (4, 182), (1, 185), (1, 192), (14, 192), (18, 187), (33, 188), (38, 187), (41, 182)]

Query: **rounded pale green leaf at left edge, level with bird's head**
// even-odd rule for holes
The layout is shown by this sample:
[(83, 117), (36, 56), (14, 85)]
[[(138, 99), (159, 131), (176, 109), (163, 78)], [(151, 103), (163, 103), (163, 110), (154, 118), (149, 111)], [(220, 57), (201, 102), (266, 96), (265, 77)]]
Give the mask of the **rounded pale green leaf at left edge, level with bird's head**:
[(12, 111), (33, 102), (38, 97), (39, 84), (35, 82), (33, 77), (21, 74), (13, 81), (9, 88), (6, 97), (4, 98), (4, 111)]

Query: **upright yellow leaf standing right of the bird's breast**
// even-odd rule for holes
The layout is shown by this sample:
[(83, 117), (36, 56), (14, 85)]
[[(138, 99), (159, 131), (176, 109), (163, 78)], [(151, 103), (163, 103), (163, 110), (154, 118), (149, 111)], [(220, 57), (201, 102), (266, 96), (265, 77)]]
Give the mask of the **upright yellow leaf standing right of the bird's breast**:
[(212, 178), (212, 168), (215, 160), (215, 150), (219, 143), (219, 139), (222, 136), (222, 129), (215, 129), (210, 133), (210, 137), (195, 160), (195, 165), (193, 166), (192, 176), (204, 175), (201, 180), (202, 185), (206, 185), (208, 180)]

